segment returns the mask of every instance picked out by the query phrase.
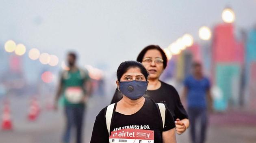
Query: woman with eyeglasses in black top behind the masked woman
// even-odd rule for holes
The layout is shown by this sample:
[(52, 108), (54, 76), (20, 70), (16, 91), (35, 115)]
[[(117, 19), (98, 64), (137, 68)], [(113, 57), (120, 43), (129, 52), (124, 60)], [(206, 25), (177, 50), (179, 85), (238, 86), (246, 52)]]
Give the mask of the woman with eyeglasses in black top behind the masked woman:
[[(157, 45), (149, 45), (139, 53), (137, 61), (142, 63), (148, 70), (148, 89), (145, 98), (153, 99), (156, 103), (165, 103), (174, 117), (176, 124), (176, 133), (182, 134), (189, 127), (187, 112), (185, 111), (177, 90), (165, 82), (159, 80), (165, 67), (167, 66), (167, 57), (164, 51)], [(116, 90), (111, 101), (116, 103), (122, 99), (119, 90)]]

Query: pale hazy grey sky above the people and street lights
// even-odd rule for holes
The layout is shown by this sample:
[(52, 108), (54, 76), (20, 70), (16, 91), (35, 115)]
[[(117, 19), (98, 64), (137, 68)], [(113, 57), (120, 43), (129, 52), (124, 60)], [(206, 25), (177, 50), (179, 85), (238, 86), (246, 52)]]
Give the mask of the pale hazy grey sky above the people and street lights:
[(149, 44), (166, 48), (186, 32), (200, 41), (198, 29), (222, 22), (225, 6), (236, 28), (255, 25), (256, 0), (0, 0), (0, 45), (12, 39), (61, 59), (74, 49), (81, 65), (117, 69)]

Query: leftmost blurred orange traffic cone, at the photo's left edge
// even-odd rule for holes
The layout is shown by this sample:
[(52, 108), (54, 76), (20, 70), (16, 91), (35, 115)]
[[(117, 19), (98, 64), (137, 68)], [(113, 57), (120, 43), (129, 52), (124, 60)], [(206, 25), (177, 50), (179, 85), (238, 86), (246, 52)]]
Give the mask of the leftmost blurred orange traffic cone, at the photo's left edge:
[(2, 116), (2, 130), (11, 130), (13, 128), (12, 121), (11, 121), (11, 115), (10, 115), (10, 109), (9, 104), (4, 104), (4, 113)]

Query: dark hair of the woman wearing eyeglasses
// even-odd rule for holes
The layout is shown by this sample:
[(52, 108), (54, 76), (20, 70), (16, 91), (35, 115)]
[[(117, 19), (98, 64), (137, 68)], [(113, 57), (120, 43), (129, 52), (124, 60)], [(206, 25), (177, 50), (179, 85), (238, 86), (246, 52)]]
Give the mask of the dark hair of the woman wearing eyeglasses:
[(163, 68), (165, 69), (165, 67), (167, 66), (167, 57), (166, 57), (163, 49), (160, 48), (160, 46), (158, 46), (158, 45), (149, 45), (149, 46), (146, 46), (145, 48), (143, 48), (143, 50), (141, 50), (141, 53), (139, 53), (139, 55), (137, 57), (137, 61), (141, 63), (145, 53), (147, 53), (148, 50), (152, 50), (152, 49), (156, 49), (161, 53), (162, 58), (163, 58)]

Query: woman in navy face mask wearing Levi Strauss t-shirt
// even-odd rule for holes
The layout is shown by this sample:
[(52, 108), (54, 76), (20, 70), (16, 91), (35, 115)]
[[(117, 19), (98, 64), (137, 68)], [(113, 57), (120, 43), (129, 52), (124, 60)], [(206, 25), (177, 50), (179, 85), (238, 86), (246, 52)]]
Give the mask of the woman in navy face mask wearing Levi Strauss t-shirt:
[(148, 86), (145, 67), (137, 61), (121, 63), (116, 83), (123, 98), (100, 111), (91, 143), (176, 143), (169, 109), (143, 97)]

